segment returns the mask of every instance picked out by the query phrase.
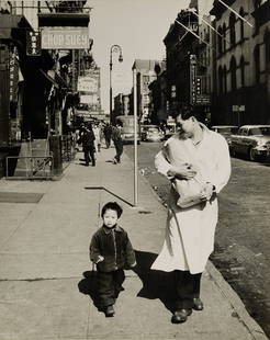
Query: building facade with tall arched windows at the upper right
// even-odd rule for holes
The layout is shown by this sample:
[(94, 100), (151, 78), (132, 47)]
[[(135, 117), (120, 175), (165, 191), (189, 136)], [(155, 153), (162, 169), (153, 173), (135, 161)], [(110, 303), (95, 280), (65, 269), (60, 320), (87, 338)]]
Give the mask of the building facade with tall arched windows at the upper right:
[(270, 124), (270, 1), (218, 1), (213, 124)]

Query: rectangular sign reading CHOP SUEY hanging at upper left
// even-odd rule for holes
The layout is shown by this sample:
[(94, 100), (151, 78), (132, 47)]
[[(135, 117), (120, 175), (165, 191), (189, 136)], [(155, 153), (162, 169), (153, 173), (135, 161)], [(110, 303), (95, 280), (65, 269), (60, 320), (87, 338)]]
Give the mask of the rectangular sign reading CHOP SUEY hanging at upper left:
[(42, 27), (43, 49), (89, 48), (88, 27)]

